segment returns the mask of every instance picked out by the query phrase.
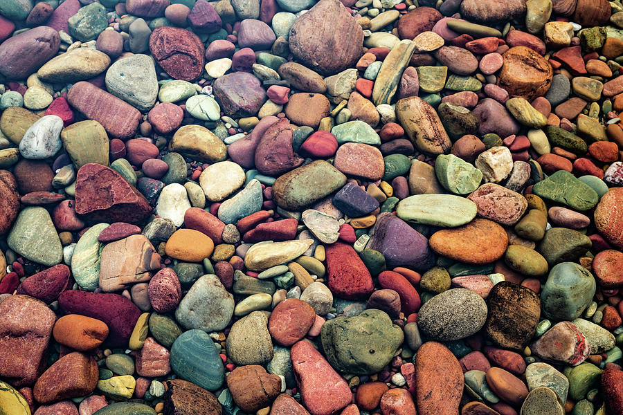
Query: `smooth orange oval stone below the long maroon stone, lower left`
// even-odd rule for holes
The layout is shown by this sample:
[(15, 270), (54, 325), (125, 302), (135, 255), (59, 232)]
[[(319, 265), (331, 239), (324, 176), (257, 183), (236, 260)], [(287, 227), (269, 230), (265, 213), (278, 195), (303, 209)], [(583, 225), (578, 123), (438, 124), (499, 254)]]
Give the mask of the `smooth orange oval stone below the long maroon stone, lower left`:
[(56, 320), (52, 330), (54, 340), (66, 347), (86, 351), (99, 347), (108, 337), (105, 322), (79, 314), (69, 314)]

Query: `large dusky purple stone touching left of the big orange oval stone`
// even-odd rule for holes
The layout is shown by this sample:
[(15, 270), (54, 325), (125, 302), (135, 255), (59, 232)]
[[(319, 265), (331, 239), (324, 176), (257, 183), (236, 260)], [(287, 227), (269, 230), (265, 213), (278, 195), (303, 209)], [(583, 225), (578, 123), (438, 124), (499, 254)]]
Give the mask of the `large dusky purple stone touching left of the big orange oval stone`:
[(390, 212), (377, 216), (365, 248), (381, 252), (388, 269), (408, 266), (427, 270), (433, 266), (434, 257), (428, 248), (428, 239)]

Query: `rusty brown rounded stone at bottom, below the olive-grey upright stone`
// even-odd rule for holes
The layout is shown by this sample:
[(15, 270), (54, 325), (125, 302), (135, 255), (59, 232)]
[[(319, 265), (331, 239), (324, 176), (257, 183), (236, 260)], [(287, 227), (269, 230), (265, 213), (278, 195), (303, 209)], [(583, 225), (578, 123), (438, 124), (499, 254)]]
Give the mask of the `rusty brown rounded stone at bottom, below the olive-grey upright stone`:
[(234, 402), (244, 412), (269, 406), (281, 391), (281, 379), (260, 365), (240, 366), (227, 376), (227, 387)]

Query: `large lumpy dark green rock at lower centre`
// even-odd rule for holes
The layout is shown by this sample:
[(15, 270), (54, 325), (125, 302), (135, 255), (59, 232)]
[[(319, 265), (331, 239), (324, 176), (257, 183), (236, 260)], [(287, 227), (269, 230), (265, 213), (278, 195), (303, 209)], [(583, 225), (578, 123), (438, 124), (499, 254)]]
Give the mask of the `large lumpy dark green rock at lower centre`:
[(327, 320), (320, 340), (329, 363), (348, 374), (374, 374), (394, 357), (404, 340), (399, 326), (375, 308), (353, 317)]

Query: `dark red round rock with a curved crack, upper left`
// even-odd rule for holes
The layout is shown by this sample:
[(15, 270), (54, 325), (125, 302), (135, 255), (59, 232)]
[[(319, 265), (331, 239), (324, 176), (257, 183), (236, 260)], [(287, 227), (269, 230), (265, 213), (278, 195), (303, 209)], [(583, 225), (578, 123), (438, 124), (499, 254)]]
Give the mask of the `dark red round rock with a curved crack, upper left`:
[(204, 44), (195, 33), (160, 26), (150, 35), (150, 51), (156, 62), (176, 80), (192, 81), (204, 71)]

